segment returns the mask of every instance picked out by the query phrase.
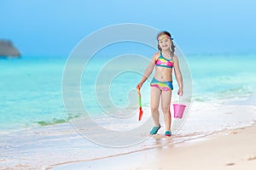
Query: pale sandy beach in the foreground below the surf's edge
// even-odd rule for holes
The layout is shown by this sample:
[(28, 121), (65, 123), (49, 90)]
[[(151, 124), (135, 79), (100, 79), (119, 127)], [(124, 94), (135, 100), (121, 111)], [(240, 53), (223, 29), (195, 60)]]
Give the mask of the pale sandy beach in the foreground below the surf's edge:
[(255, 169), (256, 124), (213, 133), (202, 139), (53, 169)]

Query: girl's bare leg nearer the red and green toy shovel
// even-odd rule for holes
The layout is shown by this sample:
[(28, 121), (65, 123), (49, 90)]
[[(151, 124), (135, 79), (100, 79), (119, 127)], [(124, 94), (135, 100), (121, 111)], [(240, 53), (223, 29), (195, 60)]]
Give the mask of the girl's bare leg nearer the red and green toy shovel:
[(151, 115), (154, 121), (154, 127), (158, 127), (160, 125), (159, 122), (159, 101), (160, 101), (160, 94), (161, 91), (158, 88), (151, 88), (151, 98), (150, 98), (150, 108), (151, 108)]

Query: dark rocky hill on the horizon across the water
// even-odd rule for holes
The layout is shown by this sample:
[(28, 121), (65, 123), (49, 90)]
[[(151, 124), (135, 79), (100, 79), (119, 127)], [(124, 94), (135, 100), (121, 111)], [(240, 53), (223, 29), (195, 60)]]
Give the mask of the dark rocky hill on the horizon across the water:
[(20, 56), (20, 51), (17, 48), (15, 48), (13, 42), (9, 40), (0, 40), (0, 58)]

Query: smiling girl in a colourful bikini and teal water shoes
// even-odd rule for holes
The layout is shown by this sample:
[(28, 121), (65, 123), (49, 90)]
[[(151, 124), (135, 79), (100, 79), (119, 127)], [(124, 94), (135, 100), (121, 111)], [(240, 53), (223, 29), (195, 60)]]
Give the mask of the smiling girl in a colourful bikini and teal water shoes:
[(174, 69), (175, 77), (178, 84), (178, 95), (183, 95), (183, 77), (179, 69), (177, 55), (174, 54), (175, 46), (172, 42), (171, 34), (167, 31), (161, 31), (157, 35), (158, 40), (158, 53), (154, 54), (148, 68), (144, 72), (141, 82), (137, 84), (137, 88), (141, 88), (143, 83), (151, 75), (154, 65), (155, 72), (154, 78), (150, 83), (151, 86), (151, 99), (150, 107), (151, 114), (154, 121), (154, 127), (150, 131), (150, 134), (156, 134), (160, 129), (159, 120), (159, 104), (161, 98), (161, 107), (164, 113), (166, 124), (166, 136), (172, 136), (171, 132), (171, 99), (172, 99), (172, 70)]

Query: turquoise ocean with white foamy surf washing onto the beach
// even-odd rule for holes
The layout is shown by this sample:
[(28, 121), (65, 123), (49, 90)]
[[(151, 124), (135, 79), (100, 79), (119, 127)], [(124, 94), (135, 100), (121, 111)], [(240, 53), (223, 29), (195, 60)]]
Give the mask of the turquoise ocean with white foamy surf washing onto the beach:
[[(149, 137), (149, 81), (142, 88), (142, 122), (137, 120), (136, 89), (148, 62), (136, 57), (90, 59), (75, 89), (74, 77), (64, 74), (67, 57), (0, 59), (0, 167), (54, 167), (168, 147), (256, 121), (256, 55), (190, 54), (186, 63), (180, 60), (188, 65), (189, 73), (183, 73), (190, 84), (189, 97), (184, 89), (181, 100), (187, 105), (184, 119), (172, 114), (172, 124), (178, 123), (171, 139), (162, 136), (163, 127), (160, 135)], [(66, 95), (67, 88), (74, 91)], [(72, 92), (80, 94), (79, 100)], [(172, 96), (172, 103), (179, 101), (176, 82)], [(122, 138), (113, 142), (117, 135)]]

